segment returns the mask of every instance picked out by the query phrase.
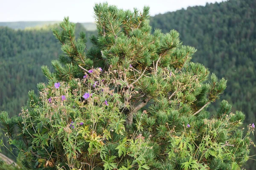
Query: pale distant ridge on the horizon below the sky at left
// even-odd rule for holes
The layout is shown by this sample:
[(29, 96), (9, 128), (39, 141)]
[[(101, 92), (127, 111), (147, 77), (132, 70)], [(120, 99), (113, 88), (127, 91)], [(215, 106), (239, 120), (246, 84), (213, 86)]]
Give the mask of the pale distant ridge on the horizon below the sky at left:
[[(18, 22), (0, 22), (0, 26), (7, 26), (12, 29), (25, 29), (31, 27), (43, 27), (58, 24), (61, 21), (18, 21)], [(95, 31), (95, 23), (80, 23), (87, 31)]]

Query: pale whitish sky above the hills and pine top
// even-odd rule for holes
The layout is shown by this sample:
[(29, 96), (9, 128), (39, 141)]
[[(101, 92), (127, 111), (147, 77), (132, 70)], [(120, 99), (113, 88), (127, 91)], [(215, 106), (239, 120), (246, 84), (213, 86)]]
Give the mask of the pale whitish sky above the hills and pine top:
[[(142, 10), (149, 6), (151, 16), (222, 1), (225, 0), (107, 0), (123, 9)], [(75, 23), (94, 22), (93, 6), (99, 2), (106, 0), (0, 0), (0, 22), (61, 21), (66, 16)]]

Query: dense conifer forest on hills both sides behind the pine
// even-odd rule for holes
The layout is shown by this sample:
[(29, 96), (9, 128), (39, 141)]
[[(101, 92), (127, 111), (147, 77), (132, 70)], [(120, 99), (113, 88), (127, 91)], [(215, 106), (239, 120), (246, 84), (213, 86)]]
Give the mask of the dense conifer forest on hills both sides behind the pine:
[[(150, 23), (163, 33), (177, 30), (184, 45), (198, 50), (193, 62), (202, 63), (217, 77), (228, 80), (221, 99), (233, 105), (232, 111), (246, 115), (245, 127), (256, 121), (255, 16), (255, 0), (229, 0), (158, 14), (151, 17)], [(18, 115), (27, 100), (27, 91), (37, 91), (36, 84), (47, 80), (41, 65), (50, 66), (51, 60), (61, 55), (52, 27), (56, 26), (25, 30), (0, 27), (0, 111)], [(94, 34), (81, 24), (76, 29), (89, 37)], [(90, 41), (87, 45), (91, 45)], [(209, 111), (215, 113), (220, 102), (211, 105)], [(249, 160), (246, 167), (249, 170), (255, 165), (255, 161)]]

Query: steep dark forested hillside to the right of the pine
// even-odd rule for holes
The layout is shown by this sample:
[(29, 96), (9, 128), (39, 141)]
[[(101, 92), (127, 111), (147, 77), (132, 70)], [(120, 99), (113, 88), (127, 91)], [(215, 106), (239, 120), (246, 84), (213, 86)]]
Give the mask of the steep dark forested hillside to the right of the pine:
[[(246, 124), (256, 121), (256, 1), (228, 0), (151, 17), (151, 26), (164, 33), (175, 29), (185, 45), (198, 49), (193, 62), (200, 62), (218, 77), (225, 77), (227, 89), (221, 99), (243, 111)], [(221, 100), (209, 106), (215, 113)], [(246, 127), (246, 125), (244, 125)], [(250, 148), (255, 155), (255, 148)], [(255, 158), (253, 158), (255, 159)], [(254, 169), (256, 162), (245, 166)]]

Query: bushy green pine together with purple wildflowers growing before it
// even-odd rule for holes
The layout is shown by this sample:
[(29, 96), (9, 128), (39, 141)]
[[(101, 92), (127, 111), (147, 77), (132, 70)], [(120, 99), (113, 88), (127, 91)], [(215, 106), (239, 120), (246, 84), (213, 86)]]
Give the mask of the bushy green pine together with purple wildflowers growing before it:
[[(98, 35), (86, 48), (84, 33), (65, 18), (53, 29), (63, 55), (55, 72), (42, 71), (40, 95), (29, 91), (20, 116), (0, 114), (9, 142), (26, 169), (237, 170), (253, 144), (244, 114), (221, 102), (207, 107), (227, 81), (190, 61), (195, 48), (179, 34), (151, 34), (149, 8), (94, 7)], [(253, 144), (254, 145), (254, 144)]]

